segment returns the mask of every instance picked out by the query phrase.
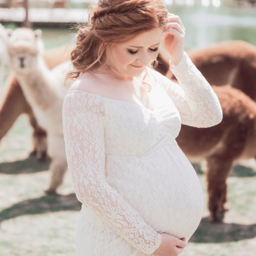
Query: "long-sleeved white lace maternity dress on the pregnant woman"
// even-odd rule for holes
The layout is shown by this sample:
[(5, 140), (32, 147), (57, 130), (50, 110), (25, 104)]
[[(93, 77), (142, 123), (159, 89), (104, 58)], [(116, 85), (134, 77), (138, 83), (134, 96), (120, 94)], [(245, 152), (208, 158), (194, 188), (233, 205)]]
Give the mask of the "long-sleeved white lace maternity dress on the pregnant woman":
[(79, 256), (156, 255), (161, 232), (188, 240), (199, 225), (202, 189), (175, 138), (181, 123), (218, 124), (222, 110), (185, 52), (170, 64), (179, 84), (147, 69), (153, 110), (81, 90), (65, 96), (68, 167), (82, 203)]

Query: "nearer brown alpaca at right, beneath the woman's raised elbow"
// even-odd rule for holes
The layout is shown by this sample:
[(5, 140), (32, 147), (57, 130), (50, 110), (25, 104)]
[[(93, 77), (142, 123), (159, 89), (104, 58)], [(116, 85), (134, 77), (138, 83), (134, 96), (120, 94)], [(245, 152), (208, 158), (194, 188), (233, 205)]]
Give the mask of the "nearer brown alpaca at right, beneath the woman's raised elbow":
[(189, 160), (206, 159), (208, 208), (217, 222), (224, 216), (232, 163), (256, 157), (256, 102), (230, 86), (212, 88), (222, 106), (222, 122), (208, 128), (182, 125), (176, 140)]

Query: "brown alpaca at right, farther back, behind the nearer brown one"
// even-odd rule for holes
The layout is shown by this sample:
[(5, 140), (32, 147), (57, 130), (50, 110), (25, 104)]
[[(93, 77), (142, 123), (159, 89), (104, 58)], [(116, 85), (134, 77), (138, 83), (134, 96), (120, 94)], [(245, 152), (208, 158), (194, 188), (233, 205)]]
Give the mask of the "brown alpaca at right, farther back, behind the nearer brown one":
[[(210, 84), (237, 88), (256, 100), (256, 47), (242, 40), (224, 41), (188, 55)], [(166, 59), (163, 60), (166, 66)], [(166, 76), (176, 81), (170, 70)]]

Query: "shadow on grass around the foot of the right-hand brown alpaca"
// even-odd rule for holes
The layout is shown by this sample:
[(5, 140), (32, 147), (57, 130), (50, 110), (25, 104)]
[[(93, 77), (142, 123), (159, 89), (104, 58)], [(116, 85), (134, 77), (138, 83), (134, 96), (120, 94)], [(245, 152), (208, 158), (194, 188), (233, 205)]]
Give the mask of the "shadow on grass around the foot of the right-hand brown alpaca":
[(194, 243), (225, 243), (256, 237), (256, 223), (250, 225), (236, 223), (211, 223), (203, 218), (190, 242)]

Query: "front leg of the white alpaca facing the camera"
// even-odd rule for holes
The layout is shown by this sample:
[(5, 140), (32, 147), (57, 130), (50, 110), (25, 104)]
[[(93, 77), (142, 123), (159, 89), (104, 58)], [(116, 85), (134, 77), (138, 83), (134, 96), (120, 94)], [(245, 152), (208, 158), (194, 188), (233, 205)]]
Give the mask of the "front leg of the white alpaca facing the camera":
[(48, 133), (48, 154), (52, 159), (50, 164), (51, 179), (45, 192), (56, 194), (56, 189), (61, 185), (67, 169), (67, 159), (63, 137)]

